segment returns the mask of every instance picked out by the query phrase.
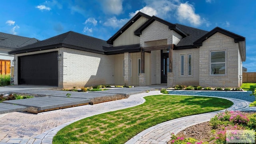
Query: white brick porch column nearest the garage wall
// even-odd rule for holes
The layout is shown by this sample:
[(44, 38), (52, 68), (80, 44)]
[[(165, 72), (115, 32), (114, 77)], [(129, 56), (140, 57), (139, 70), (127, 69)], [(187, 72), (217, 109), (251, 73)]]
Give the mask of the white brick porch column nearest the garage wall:
[(129, 86), (131, 84), (131, 54), (124, 53), (124, 84)]

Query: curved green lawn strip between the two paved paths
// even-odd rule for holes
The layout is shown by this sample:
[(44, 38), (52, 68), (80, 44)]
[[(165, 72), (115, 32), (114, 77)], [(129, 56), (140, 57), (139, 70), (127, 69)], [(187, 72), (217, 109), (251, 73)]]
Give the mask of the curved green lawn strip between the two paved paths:
[(176, 118), (222, 110), (232, 102), (210, 97), (156, 95), (139, 106), (91, 116), (60, 130), (53, 144), (124, 144), (156, 124)]

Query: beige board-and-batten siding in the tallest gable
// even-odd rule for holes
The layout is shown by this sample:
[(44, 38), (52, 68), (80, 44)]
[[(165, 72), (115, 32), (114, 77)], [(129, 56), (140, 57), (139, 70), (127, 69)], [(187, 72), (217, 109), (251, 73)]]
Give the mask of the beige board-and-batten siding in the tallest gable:
[(148, 18), (145, 18), (141, 16), (138, 20), (132, 24), (127, 30), (122, 32), (116, 40), (113, 42), (113, 46), (124, 46), (124, 45), (130, 45), (130, 44), (139, 44), (140, 43), (140, 37), (134, 35), (134, 31), (137, 30), (142, 24), (144, 24)]

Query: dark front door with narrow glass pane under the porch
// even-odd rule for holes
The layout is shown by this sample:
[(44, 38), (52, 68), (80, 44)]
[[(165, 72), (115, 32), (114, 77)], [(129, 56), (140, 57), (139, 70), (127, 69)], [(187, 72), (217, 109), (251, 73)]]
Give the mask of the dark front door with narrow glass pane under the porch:
[(169, 72), (168, 53), (162, 53), (162, 56), (161, 56), (161, 83), (167, 83), (167, 72)]

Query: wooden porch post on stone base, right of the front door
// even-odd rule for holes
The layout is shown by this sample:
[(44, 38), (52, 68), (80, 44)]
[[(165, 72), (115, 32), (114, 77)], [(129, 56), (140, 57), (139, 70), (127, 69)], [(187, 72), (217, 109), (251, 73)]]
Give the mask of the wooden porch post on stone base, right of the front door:
[(171, 45), (172, 48), (169, 46), (169, 72), (167, 73), (167, 86), (170, 88), (173, 86), (173, 80), (174, 80), (174, 73), (172, 71), (172, 50), (173, 50), (173, 44)]

